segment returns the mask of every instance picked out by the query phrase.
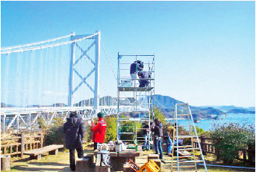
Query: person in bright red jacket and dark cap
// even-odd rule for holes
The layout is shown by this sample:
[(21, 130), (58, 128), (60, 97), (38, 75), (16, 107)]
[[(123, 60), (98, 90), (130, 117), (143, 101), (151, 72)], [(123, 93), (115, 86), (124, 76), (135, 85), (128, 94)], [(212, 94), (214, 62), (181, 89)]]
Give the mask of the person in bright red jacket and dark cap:
[(90, 127), (90, 129), (93, 132), (94, 150), (97, 149), (97, 144), (102, 144), (104, 142), (105, 131), (107, 127), (107, 124), (103, 119), (104, 114), (102, 112), (99, 112), (97, 116), (98, 116), (98, 123), (94, 124), (94, 122), (92, 121), (92, 124)]

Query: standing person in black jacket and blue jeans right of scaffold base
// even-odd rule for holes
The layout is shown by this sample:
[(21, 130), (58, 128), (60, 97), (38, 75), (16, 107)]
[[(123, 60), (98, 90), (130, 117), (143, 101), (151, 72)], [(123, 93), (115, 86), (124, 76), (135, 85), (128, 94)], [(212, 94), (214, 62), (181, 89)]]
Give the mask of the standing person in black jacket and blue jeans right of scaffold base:
[(155, 154), (160, 153), (160, 159), (163, 159), (163, 149), (162, 149), (162, 137), (163, 137), (163, 125), (160, 123), (158, 118), (154, 119), (154, 124), (151, 128), (154, 132), (154, 152)]

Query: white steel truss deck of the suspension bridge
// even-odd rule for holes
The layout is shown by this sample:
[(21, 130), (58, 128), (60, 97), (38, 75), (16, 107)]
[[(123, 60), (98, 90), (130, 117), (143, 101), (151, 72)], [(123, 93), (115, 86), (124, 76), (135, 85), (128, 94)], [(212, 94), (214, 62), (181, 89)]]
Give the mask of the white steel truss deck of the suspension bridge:
[[(119, 112), (131, 112), (134, 106), (119, 106)], [(70, 112), (77, 111), (84, 120), (96, 118), (96, 110), (92, 106), (74, 107), (38, 107), (38, 108), (3, 108), (1, 109), (1, 131), (13, 129), (19, 130), (40, 130), (40, 121), (46, 125), (54, 124), (54, 118), (61, 118), (66, 121)], [(118, 106), (100, 106), (100, 112), (104, 115), (113, 115), (118, 111)]]

